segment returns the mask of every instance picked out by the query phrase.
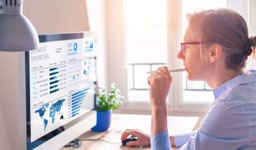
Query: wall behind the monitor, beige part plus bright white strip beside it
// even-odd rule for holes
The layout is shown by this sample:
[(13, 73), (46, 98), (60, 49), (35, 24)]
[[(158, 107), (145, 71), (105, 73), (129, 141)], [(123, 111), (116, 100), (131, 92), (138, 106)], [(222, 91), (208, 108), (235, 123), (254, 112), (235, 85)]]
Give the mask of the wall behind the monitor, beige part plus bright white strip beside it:
[(94, 31), (97, 36), (99, 86), (108, 84), (106, 57), (105, 1), (102, 0), (24, 0), (23, 13), (38, 34)]

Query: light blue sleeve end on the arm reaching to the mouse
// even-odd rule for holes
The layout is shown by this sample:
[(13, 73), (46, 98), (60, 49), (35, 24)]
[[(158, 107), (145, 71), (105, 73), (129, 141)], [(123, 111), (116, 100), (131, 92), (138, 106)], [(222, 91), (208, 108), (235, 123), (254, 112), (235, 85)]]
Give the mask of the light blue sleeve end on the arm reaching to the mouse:
[(181, 133), (174, 135), (174, 142), (177, 148), (180, 148), (182, 145), (186, 144), (190, 136), (194, 136), (197, 133), (196, 131), (190, 133)]

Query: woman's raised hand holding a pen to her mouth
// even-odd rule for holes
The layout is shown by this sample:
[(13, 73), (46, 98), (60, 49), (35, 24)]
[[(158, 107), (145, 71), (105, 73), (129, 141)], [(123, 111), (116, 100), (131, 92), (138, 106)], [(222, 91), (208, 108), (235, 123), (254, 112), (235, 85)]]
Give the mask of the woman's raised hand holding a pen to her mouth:
[(166, 66), (157, 68), (148, 76), (149, 96), (151, 106), (163, 107), (166, 105), (166, 98), (172, 83), (172, 77)]

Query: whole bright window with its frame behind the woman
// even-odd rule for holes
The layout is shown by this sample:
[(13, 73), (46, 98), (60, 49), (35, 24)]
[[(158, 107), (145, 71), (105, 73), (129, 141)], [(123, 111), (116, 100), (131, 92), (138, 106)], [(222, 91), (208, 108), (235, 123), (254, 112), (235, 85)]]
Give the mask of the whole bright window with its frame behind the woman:
[[(186, 27), (185, 13), (215, 7), (227, 7), (227, 1), (109, 1), (109, 79), (124, 92), (122, 109), (150, 110), (146, 72), (163, 65), (182, 68), (176, 55)], [(186, 73), (172, 74), (169, 111), (205, 112), (212, 103), (212, 91), (206, 83), (186, 77)]]

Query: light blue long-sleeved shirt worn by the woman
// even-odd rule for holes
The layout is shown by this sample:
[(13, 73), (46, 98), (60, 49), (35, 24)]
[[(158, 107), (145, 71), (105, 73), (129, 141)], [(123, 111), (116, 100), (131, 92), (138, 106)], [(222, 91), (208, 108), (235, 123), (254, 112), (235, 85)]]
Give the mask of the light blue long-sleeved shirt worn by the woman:
[[(256, 149), (256, 71), (234, 77), (213, 91), (215, 101), (197, 131), (175, 136), (181, 150)], [(151, 136), (151, 148), (171, 149), (169, 135)]]

